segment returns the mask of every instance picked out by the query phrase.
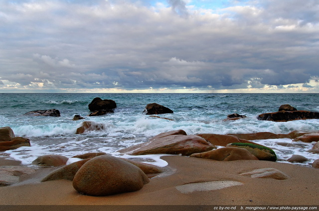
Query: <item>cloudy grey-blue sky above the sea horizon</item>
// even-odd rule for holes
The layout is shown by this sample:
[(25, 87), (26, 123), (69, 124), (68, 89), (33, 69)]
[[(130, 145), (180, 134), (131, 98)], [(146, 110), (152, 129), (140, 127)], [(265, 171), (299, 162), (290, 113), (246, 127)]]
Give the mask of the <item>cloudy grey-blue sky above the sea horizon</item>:
[(0, 0), (0, 92), (319, 93), (319, 1)]

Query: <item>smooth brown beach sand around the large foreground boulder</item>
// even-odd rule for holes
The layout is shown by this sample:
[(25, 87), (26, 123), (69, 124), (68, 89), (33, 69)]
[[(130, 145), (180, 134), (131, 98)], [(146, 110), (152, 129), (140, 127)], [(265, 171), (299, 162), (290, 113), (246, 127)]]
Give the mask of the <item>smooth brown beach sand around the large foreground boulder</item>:
[[(49, 171), (56, 168), (40, 168), (24, 181), (6, 187), (0, 187), (0, 210), (37, 210), (39, 207), (25, 205), (73, 205), (68, 207), (44, 206), (39, 210), (91, 210), (92, 207), (74, 207), (74, 205), (116, 205), (107, 206), (107, 210), (150, 210), (136, 205), (160, 205), (155, 210), (168, 210), (162, 205), (187, 205), (174, 207), (174, 210), (213, 210), (213, 206), (261, 206), (261, 205), (319, 205), (319, 169), (294, 164), (270, 161), (238, 160), (214, 161), (186, 156), (163, 156), (168, 162), (167, 171), (151, 178), (150, 183), (137, 192), (114, 196), (92, 197), (79, 194), (73, 189), (72, 182), (56, 180), (39, 182)], [(18, 165), (16, 161), (0, 159), (0, 165)], [(240, 175), (242, 172), (258, 168), (276, 168), (290, 178), (287, 180), (251, 178)], [(219, 181), (217, 190), (193, 192), (184, 184)], [(222, 181), (222, 182), (220, 182)], [(227, 187), (231, 182), (235, 186)], [(221, 188), (221, 184), (225, 188)], [(210, 183), (203, 183), (211, 189)], [(198, 186), (198, 184), (196, 184)], [(207, 186), (208, 185), (208, 186)], [(176, 188), (177, 187), (177, 188)], [(182, 188), (180, 188), (182, 187)], [(184, 188), (188, 191), (182, 191)], [(208, 187), (208, 188), (207, 188)], [(204, 187), (205, 189), (205, 187)], [(216, 187), (215, 187), (216, 189)], [(17, 206), (24, 205), (24, 206)], [(121, 206), (118, 205), (130, 205)], [(135, 205), (132, 207), (132, 205)], [(193, 206), (190, 206), (193, 205)], [(202, 205), (212, 205), (205, 207)], [(105, 206), (94, 206), (94, 210), (105, 210)], [(129, 208), (129, 209), (128, 209)]]

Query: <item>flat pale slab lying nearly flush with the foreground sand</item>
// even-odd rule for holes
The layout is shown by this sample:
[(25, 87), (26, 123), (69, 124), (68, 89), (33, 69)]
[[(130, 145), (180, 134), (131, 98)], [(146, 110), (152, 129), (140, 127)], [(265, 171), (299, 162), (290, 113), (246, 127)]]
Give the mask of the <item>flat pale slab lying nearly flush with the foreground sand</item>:
[(176, 186), (176, 189), (182, 194), (190, 194), (196, 191), (215, 191), (238, 185), (243, 185), (243, 183), (237, 181), (210, 181), (180, 185)]

